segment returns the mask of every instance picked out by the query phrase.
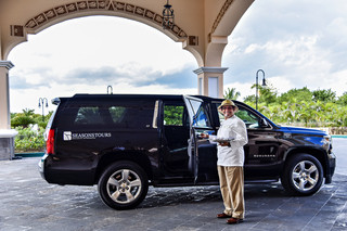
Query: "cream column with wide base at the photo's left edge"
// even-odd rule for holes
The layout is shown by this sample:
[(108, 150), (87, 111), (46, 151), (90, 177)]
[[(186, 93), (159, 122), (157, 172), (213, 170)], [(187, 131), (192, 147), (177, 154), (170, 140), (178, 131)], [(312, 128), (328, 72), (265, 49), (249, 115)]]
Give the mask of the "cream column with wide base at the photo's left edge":
[(14, 137), (17, 131), (11, 129), (9, 69), (10, 61), (0, 61), (0, 161), (14, 157)]

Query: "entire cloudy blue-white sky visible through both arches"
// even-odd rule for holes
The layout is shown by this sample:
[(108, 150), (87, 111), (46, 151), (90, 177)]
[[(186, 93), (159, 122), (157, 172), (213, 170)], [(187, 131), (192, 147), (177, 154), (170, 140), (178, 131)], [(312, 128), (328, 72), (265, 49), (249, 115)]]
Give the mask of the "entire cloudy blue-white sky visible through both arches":
[[(172, 2), (175, 10), (175, 2)], [(256, 0), (229, 36), (224, 90), (255, 94), (258, 69), (279, 94), (291, 89), (347, 90), (346, 0)], [(140, 35), (140, 36), (139, 36)], [(160, 31), (115, 16), (65, 21), (16, 46), (9, 61), (10, 111), (38, 107), (40, 98), (75, 93), (196, 94), (194, 56)], [(262, 75), (259, 75), (259, 82)]]

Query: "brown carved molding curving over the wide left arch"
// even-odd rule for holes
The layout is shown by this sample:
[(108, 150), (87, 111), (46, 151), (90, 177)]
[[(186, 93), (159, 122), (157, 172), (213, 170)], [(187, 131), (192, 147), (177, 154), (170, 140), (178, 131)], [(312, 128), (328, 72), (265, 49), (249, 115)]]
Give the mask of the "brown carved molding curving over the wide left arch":
[[(35, 17), (30, 18), (26, 24), (27, 29), (37, 29), (41, 25), (56, 20), (60, 16), (66, 16), (68, 14), (75, 14), (78, 12), (119, 12), (131, 16), (142, 17), (162, 27), (163, 16), (149, 9), (141, 8), (134, 4), (129, 4), (120, 1), (113, 0), (93, 0), (93, 1), (75, 1), (60, 7), (52, 8), (44, 11)], [(187, 34), (177, 25), (170, 28), (170, 31), (177, 36), (177, 38), (187, 38)]]

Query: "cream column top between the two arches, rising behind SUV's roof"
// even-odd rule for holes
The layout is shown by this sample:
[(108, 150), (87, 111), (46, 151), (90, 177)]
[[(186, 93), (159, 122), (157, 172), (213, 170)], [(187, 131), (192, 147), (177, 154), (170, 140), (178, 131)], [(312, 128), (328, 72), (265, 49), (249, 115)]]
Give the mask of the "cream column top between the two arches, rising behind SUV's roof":
[(200, 67), (195, 69), (198, 94), (223, 98), (223, 73), (227, 69), (226, 67)]

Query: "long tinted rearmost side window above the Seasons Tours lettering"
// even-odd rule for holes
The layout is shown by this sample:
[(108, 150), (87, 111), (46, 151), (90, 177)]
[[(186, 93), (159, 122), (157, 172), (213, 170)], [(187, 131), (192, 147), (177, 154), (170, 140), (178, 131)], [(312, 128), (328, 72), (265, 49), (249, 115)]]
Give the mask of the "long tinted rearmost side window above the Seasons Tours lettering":
[(151, 128), (154, 102), (70, 101), (60, 113), (60, 126), (65, 128)]

